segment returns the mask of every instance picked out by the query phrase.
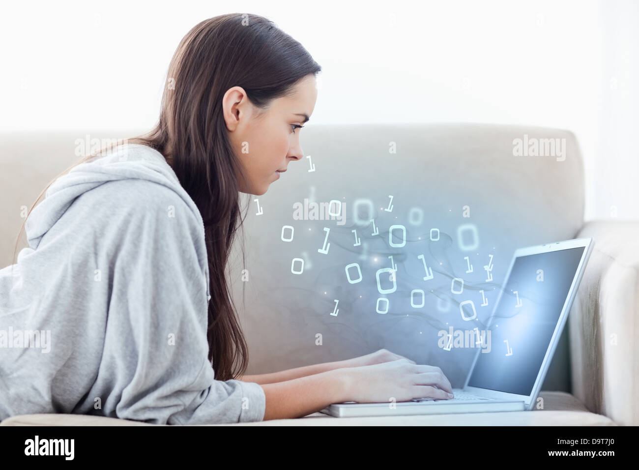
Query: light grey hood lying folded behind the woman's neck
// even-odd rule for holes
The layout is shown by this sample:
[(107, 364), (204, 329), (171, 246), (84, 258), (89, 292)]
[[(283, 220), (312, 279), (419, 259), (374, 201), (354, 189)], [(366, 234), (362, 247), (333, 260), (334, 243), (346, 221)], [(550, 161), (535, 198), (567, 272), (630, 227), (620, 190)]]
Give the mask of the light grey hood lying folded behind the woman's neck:
[(141, 144), (126, 144), (116, 147), (93, 161), (73, 167), (60, 176), (27, 218), (25, 231), (27, 241), (36, 249), (42, 237), (54, 226), (68, 207), (84, 192), (114, 180), (138, 178), (165, 185), (177, 192), (189, 205), (197, 220), (204, 222), (196, 203), (181, 186), (180, 180), (167, 164), (162, 153)]

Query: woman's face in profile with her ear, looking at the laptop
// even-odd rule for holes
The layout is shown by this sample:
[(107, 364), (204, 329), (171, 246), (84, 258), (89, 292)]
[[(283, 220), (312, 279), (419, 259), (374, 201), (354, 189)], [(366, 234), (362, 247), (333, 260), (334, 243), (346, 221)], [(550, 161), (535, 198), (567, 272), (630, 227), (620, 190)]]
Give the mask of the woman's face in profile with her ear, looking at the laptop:
[(261, 115), (242, 87), (224, 93), (226, 129), (247, 178), (247, 186), (238, 179), (240, 191), (264, 194), (279, 179), (279, 171), (286, 171), (289, 161), (304, 157), (298, 126), (311, 116), (316, 100), (317, 81), (312, 74), (296, 84), (294, 95), (273, 100)]

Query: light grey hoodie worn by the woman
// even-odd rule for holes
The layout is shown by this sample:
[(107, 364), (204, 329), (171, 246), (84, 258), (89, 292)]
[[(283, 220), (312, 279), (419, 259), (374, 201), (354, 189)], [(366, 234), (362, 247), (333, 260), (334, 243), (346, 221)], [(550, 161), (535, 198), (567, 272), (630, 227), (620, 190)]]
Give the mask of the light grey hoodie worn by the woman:
[(259, 384), (215, 380), (204, 223), (162, 154), (127, 145), (76, 166), (33, 209), (26, 235), (29, 247), (0, 270), (0, 420), (264, 418)]

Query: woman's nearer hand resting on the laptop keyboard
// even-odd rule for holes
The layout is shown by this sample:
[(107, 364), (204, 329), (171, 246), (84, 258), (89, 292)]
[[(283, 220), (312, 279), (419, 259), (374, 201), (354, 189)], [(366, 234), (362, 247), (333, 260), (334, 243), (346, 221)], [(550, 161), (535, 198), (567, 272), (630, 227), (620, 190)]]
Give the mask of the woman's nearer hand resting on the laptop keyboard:
[(413, 398), (452, 398), (452, 387), (440, 368), (397, 361), (335, 371), (346, 384), (346, 401), (358, 403), (408, 402)]

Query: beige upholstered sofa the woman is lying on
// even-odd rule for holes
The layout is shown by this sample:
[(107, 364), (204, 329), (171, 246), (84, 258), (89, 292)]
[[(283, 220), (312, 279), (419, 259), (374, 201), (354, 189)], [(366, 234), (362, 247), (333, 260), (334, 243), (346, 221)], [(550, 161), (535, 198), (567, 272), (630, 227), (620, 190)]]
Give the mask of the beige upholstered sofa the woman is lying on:
[[(0, 266), (15, 261), (13, 247), (24, 222), (21, 208), (31, 208), (50, 179), (79, 159), (79, 141), (143, 131), (0, 134), (0, 217), (5, 222)], [(454, 302), (442, 286), (446, 280), (450, 285), (451, 272), (470, 263), (463, 256), (481, 270), (488, 254), (494, 255), (498, 288), (518, 247), (592, 237), (594, 250), (543, 382), (542, 407), (362, 418), (315, 412), (298, 419), (216, 425), (639, 424), (639, 221), (584, 220), (584, 166), (573, 132), (478, 123), (312, 125), (301, 139), (304, 159), (291, 162), (266, 194), (243, 196), (245, 258), (238, 240), (229, 273), (249, 343), (247, 374), (341, 361), (385, 348), (440, 366), (452, 386), (461, 388), (473, 352), (442, 350), (436, 332), (454, 322), (454, 309), (449, 310)], [(549, 142), (557, 148), (551, 154), (518, 150), (517, 143), (535, 139), (546, 150)], [(406, 274), (406, 253), (389, 252), (374, 239), (369, 217), (380, 217), (383, 233), (388, 234), (391, 220), (408, 227), (413, 248), (425, 246), (413, 235), (431, 233), (432, 240), (435, 228), (447, 241), (441, 251), (431, 249), (442, 260), (436, 271), (444, 281), (427, 290), (424, 308), (410, 308), (397, 297), (382, 314), (376, 309), (378, 295), (371, 294), (375, 281), (370, 270), (363, 270), (367, 282), (361, 285), (344, 278), (344, 265), (353, 260), (362, 266), (396, 265), (398, 277)], [(460, 226), (472, 230), (462, 233)], [(353, 247), (357, 237), (363, 243)], [(459, 247), (468, 243), (473, 253), (460, 253)], [(25, 246), (23, 234), (16, 253)], [(0, 425), (154, 426), (73, 414), (13, 416)]]

